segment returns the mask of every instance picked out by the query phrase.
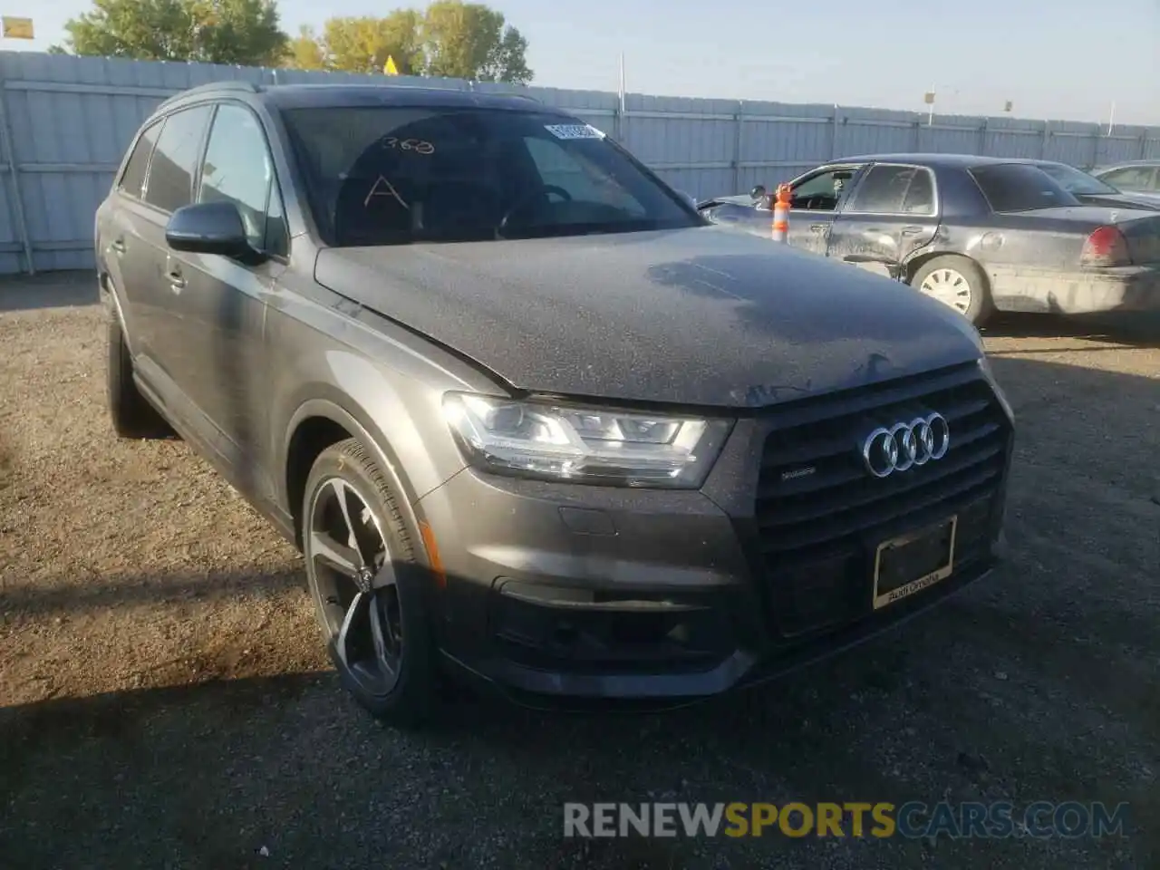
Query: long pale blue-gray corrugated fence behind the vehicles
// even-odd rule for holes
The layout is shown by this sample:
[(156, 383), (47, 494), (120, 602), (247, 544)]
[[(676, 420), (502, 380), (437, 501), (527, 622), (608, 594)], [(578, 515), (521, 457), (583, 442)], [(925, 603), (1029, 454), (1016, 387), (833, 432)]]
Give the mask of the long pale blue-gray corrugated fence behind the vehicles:
[[(288, 70), (0, 52), (0, 274), (93, 267), (93, 213), (142, 121), (165, 97), (222, 79), (384, 81)], [(400, 85), (430, 80), (400, 78)], [(440, 87), (513, 90), (440, 80)], [(528, 88), (622, 142), (696, 197), (773, 184), (843, 154), (940, 151), (1075, 166), (1160, 157), (1160, 128), (935, 116), (819, 104)]]

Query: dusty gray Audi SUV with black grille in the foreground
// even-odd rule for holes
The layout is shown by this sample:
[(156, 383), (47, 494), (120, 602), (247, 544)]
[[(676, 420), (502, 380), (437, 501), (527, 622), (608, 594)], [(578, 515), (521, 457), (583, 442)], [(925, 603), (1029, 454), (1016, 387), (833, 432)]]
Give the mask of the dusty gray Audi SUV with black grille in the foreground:
[(535, 100), (184, 92), (96, 260), (114, 428), (180, 435), (300, 548), (398, 724), (454, 675), (689, 703), (998, 558), (1013, 418), (965, 319), (706, 224)]

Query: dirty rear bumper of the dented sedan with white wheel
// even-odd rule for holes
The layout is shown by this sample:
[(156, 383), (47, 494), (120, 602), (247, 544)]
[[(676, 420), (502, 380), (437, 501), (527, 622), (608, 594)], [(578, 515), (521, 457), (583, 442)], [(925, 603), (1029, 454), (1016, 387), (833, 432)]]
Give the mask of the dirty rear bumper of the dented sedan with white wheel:
[(1087, 270), (991, 267), (988, 274), (992, 297), (1001, 311), (1160, 312), (1160, 268), (1155, 266)]

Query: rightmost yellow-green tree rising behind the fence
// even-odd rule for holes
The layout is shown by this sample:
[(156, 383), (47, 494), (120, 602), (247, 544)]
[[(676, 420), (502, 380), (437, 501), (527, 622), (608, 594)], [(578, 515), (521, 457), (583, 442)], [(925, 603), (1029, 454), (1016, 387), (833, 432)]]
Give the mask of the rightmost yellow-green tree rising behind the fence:
[(478, 81), (531, 81), (528, 41), (483, 3), (435, 0), (422, 27), (427, 74)]

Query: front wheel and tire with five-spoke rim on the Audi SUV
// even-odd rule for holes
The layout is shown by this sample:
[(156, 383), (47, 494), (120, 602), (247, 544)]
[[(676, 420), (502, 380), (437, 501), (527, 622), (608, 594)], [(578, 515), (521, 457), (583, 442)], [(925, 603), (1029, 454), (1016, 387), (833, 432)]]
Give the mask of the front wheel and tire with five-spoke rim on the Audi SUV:
[[(339, 442), (316, 459), (302, 517), (314, 615), (343, 688), (377, 719), (406, 728), (426, 724), (440, 689), (430, 574), (415, 559), (385, 476), (357, 441)], [(393, 572), (382, 570), (387, 563)]]

